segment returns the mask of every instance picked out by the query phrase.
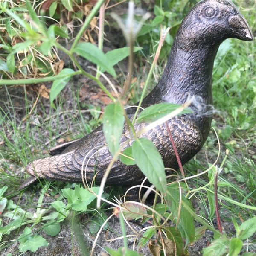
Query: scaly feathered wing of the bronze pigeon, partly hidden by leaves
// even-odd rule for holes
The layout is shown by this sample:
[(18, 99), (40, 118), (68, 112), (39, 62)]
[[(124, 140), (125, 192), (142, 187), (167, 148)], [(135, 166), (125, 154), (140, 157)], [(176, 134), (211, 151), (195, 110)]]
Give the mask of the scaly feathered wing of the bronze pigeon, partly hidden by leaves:
[[(168, 125), (181, 162), (186, 163), (201, 149), (203, 144), (201, 131), (187, 116), (176, 116), (168, 121)], [(145, 124), (135, 125), (137, 131), (143, 127)], [(128, 129), (125, 128), (121, 142), (129, 137)], [(141, 137), (148, 138), (157, 146), (166, 167), (177, 168), (177, 160), (165, 124), (159, 125)], [(101, 126), (91, 134), (72, 143), (61, 154), (30, 163), (27, 171), (39, 178), (81, 182), (83, 166), (83, 170), (86, 169), (84, 176), (88, 183), (93, 180), (96, 173), (96, 183), (100, 183), (111, 159), (112, 156), (108, 151)], [(107, 183), (134, 184), (139, 183), (143, 177), (137, 166), (125, 166), (117, 161), (111, 169)]]

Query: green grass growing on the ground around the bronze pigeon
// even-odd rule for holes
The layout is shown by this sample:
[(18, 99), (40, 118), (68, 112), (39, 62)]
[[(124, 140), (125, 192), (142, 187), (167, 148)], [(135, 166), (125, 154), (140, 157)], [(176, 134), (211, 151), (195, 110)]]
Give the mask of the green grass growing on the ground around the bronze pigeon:
[[(166, 1), (160, 2), (163, 2), (163, 8), (167, 8)], [(253, 6), (254, 3), (241, 3), (241, 1), (238, 1), (238, 3), (243, 7), (241, 12), (243, 12), (250, 26), (255, 27), (256, 11), (254, 9), (255, 6)], [(179, 15), (166, 22), (179, 21), (183, 17), (183, 9), (181, 8), (182, 4), (173, 4), (172, 10), (176, 10)], [(157, 36), (157, 32), (152, 31), (143, 39), (138, 38), (138, 44), (144, 43), (149, 46), (145, 49), (145, 56), (136, 57), (137, 63), (140, 65), (134, 70), (134, 77), (137, 77), (137, 81), (133, 85), (134, 97), (131, 98), (131, 104), (140, 99), (142, 91), (140, 83), (145, 81), (150, 69), (152, 63), (151, 55), (156, 51)], [(168, 45), (166, 45), (166, 49), (163, 49), (163, 52), (167, 51), (167, 49), (169, 49)], [(242, 42), (235, 39), (225, 41), (217, 55), (212, 78), (213, 105), (217, 111), (213, 117), (212, 127), (216, 129), (221, 143), (218, 167), (221, 166), (224, 160), (226, 149), (229, 150), (219, 175), (218, 196), (221, 198), (219, 210), (221, 221), (225, 221), (225, 224), (229, 223), (230, 226), (233, 226), (232, 218), (241, 224), (239, 218), (246, 221), (255, 216), (251, 209), (246, 208), (246, 206), (253, 207), (256, 205), (256, 158), (254, 155), (256, 145), (255, 53), (255, 41)], [(160, 78), (165, 61), (166, 59), (160, 56), (159, 66), (154, 70), (154, 76), (151, 78), (151, 88), (156, 84), (156, 80)], [(122, 73), (122, 70), (120, 72)], [(40, 157), (46, 157), (47, 149), (56, 145), (58, 139), (75, 139), (84, 136), (93, 131), (102, 122), (99, 119), (99, 115), (93, 114), (94, 112), (89, 114), (90, 112), (84, 113), (81, 110), (81, 107), (87, 108), (87, 106), (82, 106), (81, 102), (79, 103), (78, 91), (81, 86), (82, 84), (79, 84), (67, 89), (68, 96), (63, 93), (59, 97), (56, 110), (49, 107), (49, 101), (40, 98), (31, 116), (24, 122), (22, 119), (31, 110), (36, 96), (28, 96), (26, 87), (23, 87), (23, 90), (17, 89), (20, 97), (17, 100), (14, 96), (14, 88), (1, 88), (1, 93), (5, 95), (6, 100), (4, 102), (1, 101), (0, 105), (0, 142), (3, 143), (0, 145), (0, 184), (1, 187), (8, 187), (4, 194), (5, 196), (7, 195), (8, 200), (11, 200), (12, 196), (15, 195), (15, 204), (17, 206), (20, 206), (25, 212), (36, 211), (38, 213), (37, 218), (27, 218), (24, 212), (21, 212), (21, 216), (23, 215), (24, 218), (27, 218), (25, 226), (32, 228), (33, 235), (40, 235), (44, 232), (42, 231), (43, 224), (46, 221), (41, 220), (43, 217), (50, 216), (51, 211), (48, 211), (48, 209), (51, 207), (51, 202), (67, 203), (67, 198), (64, 197), (62, 189), (73, 188), (74, 184), (47, 181), (36, 185), (34, 190), (19, 191), (20, 183), (24, 178), (28, 177), (24, 171), (27, 163)], [(18, 108), (22, 108), (23, 115), (20, 115)], [(97, 106), (94, 106), (94, 108), (96, 109)], [(211, 131), (201, 153), (184, 166), (186, 177), (206, 170), (208, 164), (214, 163), (217, 155), (218, 143), (214, 132)], [(209, 182), (208, 175), (192, 178), (187, 182), (189, 189), (198, 189), (192, 196), (192, 202), (196, 204), (196, 214), (206, 218), (211, 225), (216, 227), (215, 214), (209, 218), (209, 195), (212, 195), (210, 191), (213, 191), (213, 187), (207, 187), (209, 189), (208, 194), (207, 190), (199, 189)], [(38, 191), (43, 187), (49, 195), (49, 200), (47, 202), (47, 197), (44, 195), (43, 202), (37, 206), (37, 200), (40, 197), (40, 192)], [(118, 190), (113, 189), (109, 194), (118, 197)], [(56, 195), (59, 195), (58, 199), (55, 198)], [(23, 202), (22, 205), (20, 205), (21, 200)], [(97, 213), (94, 210), (96, 208), (94, 202), (88, 206), (89, 210), (84, 214), (90, 216), (92, 223), (99, 223), (96, 224), (96, 227), (95, 225), (93, 226), (95, 229), (93, 230), (92, 228), (90, 230), (91, 233), (96, 233), (103, 223), (102, 220), (105, 220), (107, 215), (111, 214), (111, 210), (107, 210), (107, 207), (109, 206), (105, 203)], [(6, 212), (17, 216), (17, 209), (20, 208), (6, 209)], [(59, 212), (59, 209), (53, 208), (52, 212)], [(73, 216), (76, 214), (78, 213), (73, 212)], [(79, 214), (78, 217), (80, 216)], [(78, 218), (72, 218), (72, 215), (70, 218), (71, 221), (68, 223), (71, 226), (74, 224), (79, 227)], [(54, 224), (58, 224), (56, 219), (53, 219), (53, 221)], [(4, 219), (1, 225), (6, 226), (7, 222)], [(12, 231), (11, 237), (14, 241), (11, 242), (6, 242), (4, 236), (3, 241), (0, 242), (0, 250), (8, 248), (13, 242), (17, 241), (21, 231), (23, 231), (23, 227), (19, 226)], [(231, 229), (228, 235), (235, 236), (234, 228), (233, 230)], [(253, 239), (250, 238), (249, 241), (249, 252), (253, 248), (253, 243), (255, 243), (255, 237)], [(245, 247), (244, 250), (246, 249)]]

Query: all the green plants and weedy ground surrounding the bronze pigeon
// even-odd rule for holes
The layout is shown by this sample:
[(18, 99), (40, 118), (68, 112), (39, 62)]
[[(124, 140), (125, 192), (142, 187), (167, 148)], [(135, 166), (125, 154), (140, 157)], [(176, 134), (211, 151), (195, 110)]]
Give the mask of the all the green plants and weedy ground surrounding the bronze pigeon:
[[(103, 1), (0, 3), (1, 253), (30, 255), (41, 251), (44, 255), (43, 248), (49, 248), (51, 254), (53, 239), (70, 227), (71, 251), (54, 253), (89, 255), (101, 244), (99, 240), (105, 239), (99, 239), (102, 233), (115, 234), (113, 218), (119, 220), (120, 227), (113, 241), (121, 243), (107, 244), (96, 252), (202, 252), (206, 256), (256, 253), (255, 42), (231, 39), (221, 45), (212, 88), (215, 130), (202, 151), (183, 167), (186, 178), (176, 170), (168, 172), (166, 179), (162, 160), (150, 141), (137, 139), (122, 151), (118, 140), (111, 140), (113, 134), (121, 136), (124, 106), (143, 99), (160, 78), (180, 21), (196, 2), (160, 0), (154, 6), (140, 6), (142, 3), (137, 1), (135, 5), (149, 9), (151, 17), (135, 15), (134, 33), (130, 33), (129, 22), (123, 21), (131, 19), (132, 4), (125, 15), (111, 7), (117, 2), (104, 3), (106, 8)], [(125, 3), (116, 7), (122, 4), (126, 13)], [(250, 26), (255, 27), (255, 3), (239, 1), (238, 6)], [(111, 18), (112, 8), (119, 14)], [(125, 38), (128, 46), (121, 43), (118, 49), (104, 49), (108, 44), (104, 39), (108, 38), (104, 36), (107, 21), (117, 30), (121, 27), (124, 36), (119, 32), (118, 38), (123, 42), (121, 38)], [(122, 62), (126, 57), (128, 61)], [(145, 109), (137, 122), (154, 122), (166, 115), (170, 118), (174, 110), (187, 111), (186, 106), (163, 107), (163, 113), (159, 113), (159, 105), (151, 107), (150, 113), (155, 111), (157, 119)], [(32, 189), (19, 190), (28, 177), (24, 172), (27, 163), (45, 157), (56, 143), (81, 137), (101, 123), (113, 159), (135, 162), (154, 185), (151, 205), (144, 200), (124, 202), (119, 188), (103, 191), (103, 183), (101, 187), (88, 187), (42, 181)], [(151, 172), (142, 161), (151, 161)], [(160, 183), (159, 177), (152, 179), (156, 171), (164, 182)], [(128, 222), (133, 220), (140, 223), (140, 230)], [(84, 241), (84, 226), (93, 241)]]

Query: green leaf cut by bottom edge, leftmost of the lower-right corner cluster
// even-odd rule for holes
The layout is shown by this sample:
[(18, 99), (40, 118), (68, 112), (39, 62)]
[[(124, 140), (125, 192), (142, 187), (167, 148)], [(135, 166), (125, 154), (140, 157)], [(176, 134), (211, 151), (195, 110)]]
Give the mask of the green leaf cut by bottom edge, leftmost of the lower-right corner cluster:
[(221, 256), (227, 254), (230, 241), (227, 237), (222, 236), (214, 240), (208, 247), (203, 249), (203, 256)]

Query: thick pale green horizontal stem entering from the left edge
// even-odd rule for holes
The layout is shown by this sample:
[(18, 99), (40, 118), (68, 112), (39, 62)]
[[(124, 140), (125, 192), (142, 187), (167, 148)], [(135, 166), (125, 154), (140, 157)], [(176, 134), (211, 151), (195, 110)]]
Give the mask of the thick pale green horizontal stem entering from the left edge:
[(49, 77), (42, 77), (42, 78), (31, 78), (31, 79), (2, 79), (0, 80), (0, 86), (5, 84), (5, 85), (17, 85), (17, 84), (37, 84), (37, 83), (42, 83), (42, 82), (48, 82), (48, 81), (53, 81), (56, 79), (64, 78), (67, 76), (75, 76), (81, 74), (81, 71), (75, 71), (74, 73), (68, 74), (68, 75), (61, 75), (61, 76), (49, 76)]

